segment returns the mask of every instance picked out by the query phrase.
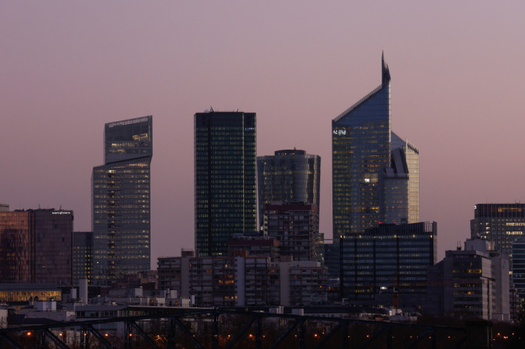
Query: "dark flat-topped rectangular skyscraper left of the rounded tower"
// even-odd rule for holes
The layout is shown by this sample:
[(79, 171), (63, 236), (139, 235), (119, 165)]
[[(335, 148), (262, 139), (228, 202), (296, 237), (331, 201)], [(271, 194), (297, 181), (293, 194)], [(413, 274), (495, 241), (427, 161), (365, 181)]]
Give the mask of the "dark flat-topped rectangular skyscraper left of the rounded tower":
[(255, 113), (196, 113), (195, 249), (225, 256), (235, 233), (257, 231)]

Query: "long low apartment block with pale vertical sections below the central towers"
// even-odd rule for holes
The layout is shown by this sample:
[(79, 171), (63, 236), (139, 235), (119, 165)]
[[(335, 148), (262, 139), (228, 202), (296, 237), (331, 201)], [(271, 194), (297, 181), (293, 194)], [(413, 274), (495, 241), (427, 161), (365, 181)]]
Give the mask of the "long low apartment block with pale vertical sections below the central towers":
[(228, 256), (158, 259), (160, 290), (195, 306), (305, 306), (326, 301), (326, 268), (317, 261)]

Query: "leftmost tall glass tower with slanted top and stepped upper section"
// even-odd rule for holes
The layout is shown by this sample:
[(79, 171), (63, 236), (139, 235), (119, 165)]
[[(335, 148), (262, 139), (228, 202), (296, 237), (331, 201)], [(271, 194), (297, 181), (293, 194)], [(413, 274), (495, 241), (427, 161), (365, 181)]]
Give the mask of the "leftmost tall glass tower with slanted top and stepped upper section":
[(105, 284), (151, 269), (153, 118), (107, 123), (104, 165), (93, 167), (93, 279)]

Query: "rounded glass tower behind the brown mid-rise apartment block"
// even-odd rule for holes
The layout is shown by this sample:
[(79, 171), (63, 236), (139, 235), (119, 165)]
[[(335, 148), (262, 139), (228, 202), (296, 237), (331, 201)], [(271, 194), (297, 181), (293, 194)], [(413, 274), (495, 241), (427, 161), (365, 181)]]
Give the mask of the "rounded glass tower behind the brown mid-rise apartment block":
[(266, 204), (306, 202), (320, 208), (321, 157), (305, 150), (277, 150), (257, 158), (259, 221)]

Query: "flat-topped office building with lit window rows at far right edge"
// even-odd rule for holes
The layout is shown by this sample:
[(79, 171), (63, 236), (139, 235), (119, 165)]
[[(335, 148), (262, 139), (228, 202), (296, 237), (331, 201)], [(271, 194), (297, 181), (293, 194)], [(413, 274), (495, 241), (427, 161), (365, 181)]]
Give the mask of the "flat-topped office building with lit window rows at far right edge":
[(493, 241), (496, 249), (509, 255), (512, 266), (512, 241), (525, 237), (525, 204), (474, 205), (470, 235)]

